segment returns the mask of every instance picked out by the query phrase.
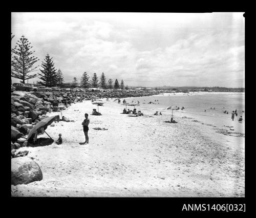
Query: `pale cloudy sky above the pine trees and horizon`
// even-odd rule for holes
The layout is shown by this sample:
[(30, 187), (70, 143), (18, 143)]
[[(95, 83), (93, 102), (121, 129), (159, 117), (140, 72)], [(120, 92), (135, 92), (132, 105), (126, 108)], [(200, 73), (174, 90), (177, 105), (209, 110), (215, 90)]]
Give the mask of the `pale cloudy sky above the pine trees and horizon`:
[(241, 12), (11, 14), (12, 48), (25, 35), (36, 65), (49, 53), (65, 82), (103, 72), (131, 86), (244, 87), (244, 29)]

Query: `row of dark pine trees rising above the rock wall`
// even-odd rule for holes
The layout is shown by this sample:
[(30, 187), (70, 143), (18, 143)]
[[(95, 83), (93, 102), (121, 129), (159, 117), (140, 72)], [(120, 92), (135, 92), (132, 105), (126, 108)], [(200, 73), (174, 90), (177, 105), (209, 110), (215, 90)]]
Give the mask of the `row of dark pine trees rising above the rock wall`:
[[(13, 39), (14, 35), (12, 35)], [(41, 80), (39, 83), (47, 87), (61, 86), (64, 82), (64, 77), (60, 69), (54, 67), (52, 57), (47, 53), (44, 61), (41, 63), (40, 73), (32, 74), (39, 66), (35, 66), (35, 63), (39, 60), (33, 56), (35, 51), (32, 51), (31, 42), (25, 36), (19, 38), (15, 47), (11, 50), (11, 76), (13, 78), (20, 79), (20, 82), (25, 83), (25, 80), (33, 79), (38, 76)], [(78, 85), (78, 80), (74, 77), (72, 86)], [(97, 74), (94, 73), (91, 80), (89, 75), (84, 72), (81, 77), (80, 85), (82, 88), (101, 88), (101, 89), (128, 89), (127, 85), (124, 87), (124, 82), (121, 80), (119, 84), (116, 79), (113, 83), (112, 79), (106, 81), (104, 73), (101, 74), (98, 79)]]

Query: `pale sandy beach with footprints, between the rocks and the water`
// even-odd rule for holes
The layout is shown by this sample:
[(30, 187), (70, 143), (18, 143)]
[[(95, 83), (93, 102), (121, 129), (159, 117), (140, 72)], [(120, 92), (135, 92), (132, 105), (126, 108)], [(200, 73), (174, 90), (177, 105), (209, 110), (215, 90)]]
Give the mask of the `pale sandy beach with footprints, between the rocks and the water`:
[[(153, 116), (154, 109), (141, 105), (137, 111), (151, 116), (128, 117), (120, 114), (123, 105), (103, 102), (102, 116), (90, 116), (97, 108), (90, 101), (62, 112), (75, 122), (60, 121), (46, 132), (55, 141), (61, 133), (63, 144), (20, 148), (35, 158), (43, 179), (12, 185), (13, 196), (244, 197), (244, 137), (217, 133), (231, 124), (233, 132), (244, 133), (244, 124), (231, 119), (213, 124), (186, 112), (175, 112), (178, 123), (165, 123), (170, 110)], [(79, 144), (84, 113), (91, 121), (88, 145)]]

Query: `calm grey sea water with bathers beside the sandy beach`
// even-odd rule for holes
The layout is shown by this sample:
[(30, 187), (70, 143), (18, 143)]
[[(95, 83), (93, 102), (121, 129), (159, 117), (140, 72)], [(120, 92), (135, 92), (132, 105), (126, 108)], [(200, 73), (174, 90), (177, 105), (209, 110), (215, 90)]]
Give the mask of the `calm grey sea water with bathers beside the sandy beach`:
[[(121, 99), (122, 100), (122, 99)], [(156, 100), (156, 101), (155, 101)], [(245, 94), (244, 93), (190, 93), (190, 94), (164, 94), (145, 96), (137, 98), (126, 98), (126, 102), (139, 101), (139, 107), (150, 107), (162, 110), (168, 106), (185, 107), (184, 112), (198, 115), (214, 116), (214, 117), (231, 117), (231, 113), (237, 110), (238, 117), (243, 116), (245, 111)], [(152, 101), (153, 104), (148, 102)], [(210, 109), (210, 107), (212, 109)], [(215, 107), (215, 110), (214, 110)], [(205, 112), (206, 110), (206, 112)], [(224, 114), (224, 111), (228, 112)]]

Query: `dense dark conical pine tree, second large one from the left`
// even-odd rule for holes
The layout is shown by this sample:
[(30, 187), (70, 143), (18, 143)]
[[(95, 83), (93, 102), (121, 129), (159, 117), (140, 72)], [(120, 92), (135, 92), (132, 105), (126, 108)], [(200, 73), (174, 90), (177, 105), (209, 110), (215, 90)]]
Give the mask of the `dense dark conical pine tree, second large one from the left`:
[(52, 58), (50, 58), (48, 53), (46, 54), (46, 58), (44, 59), (44, 61), (45, 62), (42, 62), (41, 64), (41, 67), (43, 69), (40, 69), (41, 73), (38, 73), (38, 75), (40, 76), (39, 79), (42, 80), (42, 82), (40, 83), (47, 87), (55, 86), (58, 83), (57, 72), (54, 67), (53, 60)]

